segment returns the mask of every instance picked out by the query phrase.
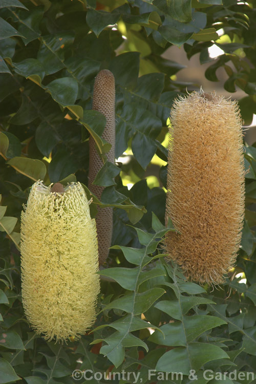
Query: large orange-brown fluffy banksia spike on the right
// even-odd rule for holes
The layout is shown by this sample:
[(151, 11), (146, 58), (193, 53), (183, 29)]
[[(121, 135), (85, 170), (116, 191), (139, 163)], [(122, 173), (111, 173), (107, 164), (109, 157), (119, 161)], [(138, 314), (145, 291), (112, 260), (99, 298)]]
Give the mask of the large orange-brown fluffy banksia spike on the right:
[(166, 248), (185, 275), (219, 284), (236, 261), (244, 218), (242, 120), (215, 93), (179, 97), (171, 111)]

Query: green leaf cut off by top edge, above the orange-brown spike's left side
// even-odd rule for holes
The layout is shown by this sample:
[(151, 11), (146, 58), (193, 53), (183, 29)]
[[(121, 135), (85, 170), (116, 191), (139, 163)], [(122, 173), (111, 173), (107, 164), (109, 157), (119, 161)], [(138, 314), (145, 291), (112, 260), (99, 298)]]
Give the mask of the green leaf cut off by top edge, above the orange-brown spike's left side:
[(191, 0), (154, 0), (153, 4), (179, 22), (187, 23), (191, 20)]

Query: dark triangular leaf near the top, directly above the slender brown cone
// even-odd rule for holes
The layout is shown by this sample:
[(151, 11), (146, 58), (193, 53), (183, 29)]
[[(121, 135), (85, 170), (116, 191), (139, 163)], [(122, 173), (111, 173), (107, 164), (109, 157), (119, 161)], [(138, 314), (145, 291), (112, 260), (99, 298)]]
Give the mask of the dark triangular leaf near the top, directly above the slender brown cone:
[(86, 15), (86, 21), (89, 27), (93, 30), (98, 37), (100, 32), (108, 25), (114, 25), (117, 23), (120, 14), (110, 13), (105, 11), (97, 11), (90, 8)]

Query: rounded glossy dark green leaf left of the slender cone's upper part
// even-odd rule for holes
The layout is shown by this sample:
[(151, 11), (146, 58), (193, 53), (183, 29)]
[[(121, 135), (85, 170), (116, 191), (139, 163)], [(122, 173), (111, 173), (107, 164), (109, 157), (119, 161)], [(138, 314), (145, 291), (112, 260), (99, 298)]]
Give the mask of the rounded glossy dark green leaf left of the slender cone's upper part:
[(46, 90), (58, 104), (65, 107), (75, 103), (78, 94), (78, 83), (72, 77), (61, 77), (51, 81)]

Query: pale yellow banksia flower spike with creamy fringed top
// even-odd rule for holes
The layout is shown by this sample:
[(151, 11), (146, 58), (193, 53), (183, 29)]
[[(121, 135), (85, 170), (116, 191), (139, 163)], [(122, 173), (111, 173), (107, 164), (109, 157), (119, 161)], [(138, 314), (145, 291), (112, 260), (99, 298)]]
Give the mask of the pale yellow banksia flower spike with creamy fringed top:
[(22, 301), (37, 333), (76, 339), (96, 319), (99, 293), (95, 220), (80, 183), (33, 184), (22, 212)]

